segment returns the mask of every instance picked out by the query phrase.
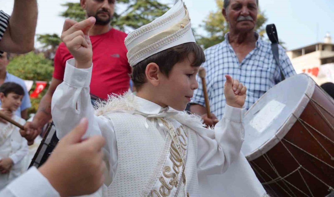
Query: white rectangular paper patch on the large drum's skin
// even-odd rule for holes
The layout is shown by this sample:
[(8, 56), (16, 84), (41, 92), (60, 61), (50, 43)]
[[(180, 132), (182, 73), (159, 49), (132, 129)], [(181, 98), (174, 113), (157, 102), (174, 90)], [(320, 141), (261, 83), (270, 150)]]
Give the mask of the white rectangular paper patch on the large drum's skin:
[(265, 131), (286, 105), (276, 100), (271, 100), (267, 105), (256, 113), (250, 125), (259, 133)]

